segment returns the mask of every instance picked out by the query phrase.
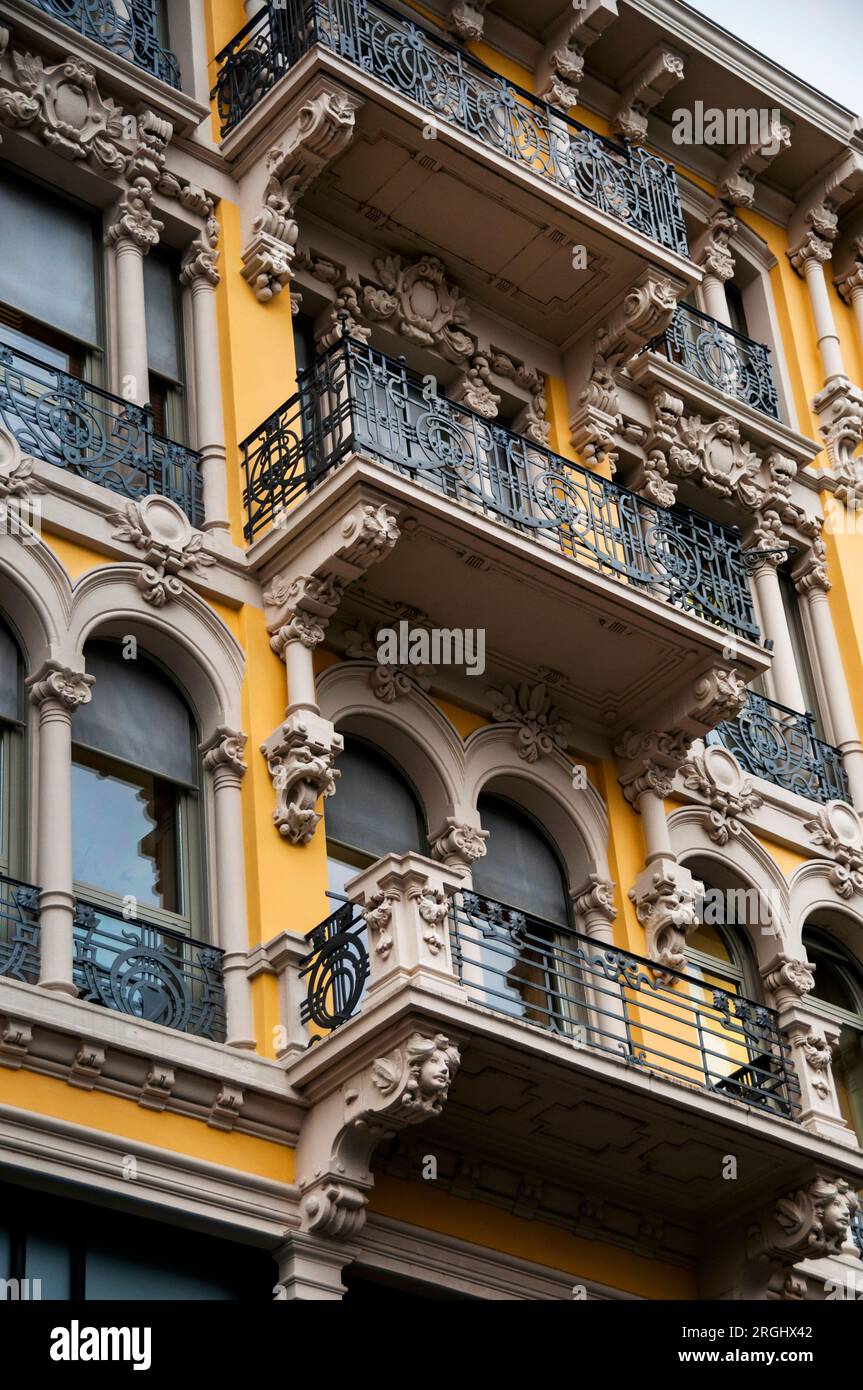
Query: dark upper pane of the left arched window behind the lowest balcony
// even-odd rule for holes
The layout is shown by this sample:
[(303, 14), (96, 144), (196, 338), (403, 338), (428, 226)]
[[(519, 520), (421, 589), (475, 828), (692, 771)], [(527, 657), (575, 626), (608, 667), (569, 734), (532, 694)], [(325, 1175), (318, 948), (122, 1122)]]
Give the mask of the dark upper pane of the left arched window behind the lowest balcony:
[(336, 767), (342, 776), (327, 802), (327, 840), (364, 849), (372, 859), (409, 849), (421, 853), (420, 808), (389, 759), (350, 739)]

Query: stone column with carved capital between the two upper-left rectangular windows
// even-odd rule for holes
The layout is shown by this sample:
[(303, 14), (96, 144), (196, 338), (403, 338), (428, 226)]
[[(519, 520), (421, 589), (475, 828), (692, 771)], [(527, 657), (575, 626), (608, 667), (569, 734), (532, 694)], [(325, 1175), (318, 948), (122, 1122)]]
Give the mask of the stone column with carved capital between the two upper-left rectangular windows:
[(120, 395), (138, 406), (150, 400), (147, 314), (143, 259), (158, 245), (163, 222), (151, 213), (153, 188), (136, 178), (120, 203), (106, 242), (114, 247), (117, 267), (117, 352)]

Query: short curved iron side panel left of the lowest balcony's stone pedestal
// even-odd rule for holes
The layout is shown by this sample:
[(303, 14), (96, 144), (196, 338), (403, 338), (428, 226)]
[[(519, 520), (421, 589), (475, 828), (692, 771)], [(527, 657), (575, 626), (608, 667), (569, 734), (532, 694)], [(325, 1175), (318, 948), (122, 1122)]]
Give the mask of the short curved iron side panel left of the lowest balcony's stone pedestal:
[(365, 992), (365, 923), (353, 903), (343, 902), (306, 940), (310, 951), (300, 963), (300, 979), (309, 984), (300, 1017), (331, 1031), (357, 1013)]

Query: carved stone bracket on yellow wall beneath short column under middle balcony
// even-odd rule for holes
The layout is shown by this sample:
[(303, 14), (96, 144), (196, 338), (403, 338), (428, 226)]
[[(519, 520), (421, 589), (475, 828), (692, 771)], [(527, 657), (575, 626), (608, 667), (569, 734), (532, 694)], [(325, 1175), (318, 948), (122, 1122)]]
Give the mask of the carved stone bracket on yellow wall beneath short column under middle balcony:
[(306, 845), (314, 835), (321, 821), (315, 806), (335, 792), (340, 774), (334, 759), (343, 748), (342, 735), (311, 710), (289, 714), (261, 744), (275, 791), (272, 820), (289, 844)]

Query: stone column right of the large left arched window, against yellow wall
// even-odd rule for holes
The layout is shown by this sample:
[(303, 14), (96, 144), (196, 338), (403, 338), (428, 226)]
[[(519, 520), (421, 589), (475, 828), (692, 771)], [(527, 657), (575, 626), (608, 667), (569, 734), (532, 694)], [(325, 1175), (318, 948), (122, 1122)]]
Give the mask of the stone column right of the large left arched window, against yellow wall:
[(213, 777), (213, 820), (215, 831), (215, 888), (218, 935), (224, 951), (225, 1012), (228, 1045), (254, 1048), (252, 995), (249, 990), (249, 923), (246, 917), (246, 870), (243, 855), (242, 753), (246, 735), (220, 727), (202, 744), (204, 769)]

